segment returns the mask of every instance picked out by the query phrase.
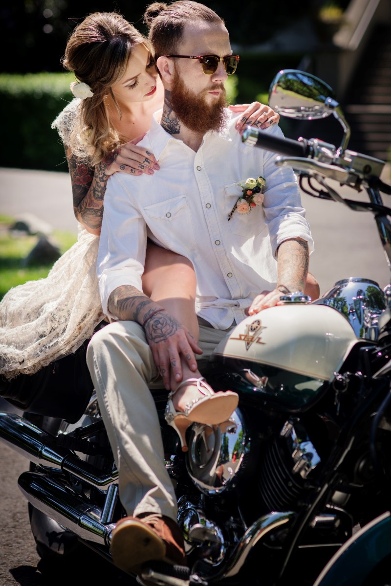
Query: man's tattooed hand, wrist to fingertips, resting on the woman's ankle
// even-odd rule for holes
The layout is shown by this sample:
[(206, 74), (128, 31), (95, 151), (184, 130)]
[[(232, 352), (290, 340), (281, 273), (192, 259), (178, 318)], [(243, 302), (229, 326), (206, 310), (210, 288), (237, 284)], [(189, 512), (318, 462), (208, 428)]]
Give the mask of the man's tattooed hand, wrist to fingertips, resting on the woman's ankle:
[(145, 314), (143, 326), (153, 359), (167, 390), (171, 388), (172, 380), (182, 379), (181, 357), (190, 370), (197, 370), (194, 352), (202, 354), (202, 350), (188, 329), (175, 318), (163, 309), (156, 311), (152, 308)]

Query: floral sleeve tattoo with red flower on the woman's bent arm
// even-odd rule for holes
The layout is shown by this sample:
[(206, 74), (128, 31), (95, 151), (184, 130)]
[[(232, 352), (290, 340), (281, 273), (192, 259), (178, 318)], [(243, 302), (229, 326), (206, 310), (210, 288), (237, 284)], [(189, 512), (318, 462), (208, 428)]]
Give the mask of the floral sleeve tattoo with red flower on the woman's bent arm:
[(104, 169), (107, 163), (95, 168), (78, 163), (74, 156), (68, 157), (73, 193), (73, 210), (78, 222), (91, 229), (101, 227), (103, 217), (103, 199), (107, 186)]

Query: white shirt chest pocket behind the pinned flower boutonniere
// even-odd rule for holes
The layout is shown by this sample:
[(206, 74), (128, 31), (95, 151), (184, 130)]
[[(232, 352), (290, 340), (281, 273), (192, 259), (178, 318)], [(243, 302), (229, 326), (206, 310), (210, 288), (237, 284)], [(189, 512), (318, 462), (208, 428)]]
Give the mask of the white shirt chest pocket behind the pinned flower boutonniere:
[[(246, 179), (238, 181), (238, 183), (242, 183), (242, 185), (244, 185), (245, 180)], [(224, 205), (227, 221), (229, 214), (231, 214), (232, 210), (234, 209), (234, 206), (239, 197), (242, 197), (242, 188), (240, 185), (238, 185), (238, 183), (224, 185)], [(237, 234), (238, 236), (243, 236), (246, 238), (258, 236), (258, 234), (266, 229), (263, 206), (259, 205), (252, 207), (251, 212), (243, 214), (235, 210), (235, 212), (232, 213), (228, 225), (232, 234)]]

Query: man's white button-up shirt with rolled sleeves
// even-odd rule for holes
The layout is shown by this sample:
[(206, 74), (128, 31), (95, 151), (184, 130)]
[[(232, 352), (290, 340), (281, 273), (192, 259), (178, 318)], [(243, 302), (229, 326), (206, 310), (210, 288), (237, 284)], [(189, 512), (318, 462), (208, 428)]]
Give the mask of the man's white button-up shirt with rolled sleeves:
[[(159, 160), (150, 176), (115, 173), (108, 179), (98, 253), (102, 307), (120, 285), (142, 290), (147, 237), (191, 260), (197, 277), (195, 309), (214, 328), (245, 318), (245, 309), (277, 281), (279, 244), (300, 237), (313, 251), (310, 227), (291, 169), (271, 151), (250, 147), (227, 111), (225, 131), (208, 132), (197, 152), (155, 121), (139, 142)], [(282, 136), (275, 125), (262, 132)], [(249, 177), (266, 178), (263, 205), (229, 213)], [(178, 283), (178, 287), (181, 284)]]

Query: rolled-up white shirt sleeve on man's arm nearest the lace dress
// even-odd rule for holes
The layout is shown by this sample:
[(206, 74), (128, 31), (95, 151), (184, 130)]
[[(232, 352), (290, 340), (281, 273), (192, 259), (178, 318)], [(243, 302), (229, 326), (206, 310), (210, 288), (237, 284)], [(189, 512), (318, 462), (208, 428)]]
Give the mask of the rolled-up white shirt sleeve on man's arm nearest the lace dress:
[(145, 252), (145, 221), (133, 206), (120, 173), (115, 173), (107, 182), (97, 259), (102, 309), (109, 318), (114, 318), (108, 311), (108, 298), (114, 289), (132, 285), (142, 291)]

